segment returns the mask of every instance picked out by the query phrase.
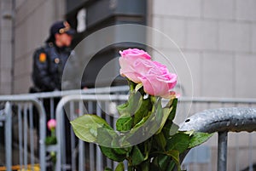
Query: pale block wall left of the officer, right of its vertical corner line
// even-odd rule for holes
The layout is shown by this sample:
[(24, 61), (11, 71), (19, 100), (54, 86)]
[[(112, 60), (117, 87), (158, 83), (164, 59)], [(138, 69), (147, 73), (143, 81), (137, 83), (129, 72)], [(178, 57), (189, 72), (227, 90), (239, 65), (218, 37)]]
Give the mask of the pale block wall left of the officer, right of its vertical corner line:
[(15, 1), (14, 94), (26, 93), (32, 85), (32, 53), (44, 44), (49, 27), (63, 20), (65, 0)]

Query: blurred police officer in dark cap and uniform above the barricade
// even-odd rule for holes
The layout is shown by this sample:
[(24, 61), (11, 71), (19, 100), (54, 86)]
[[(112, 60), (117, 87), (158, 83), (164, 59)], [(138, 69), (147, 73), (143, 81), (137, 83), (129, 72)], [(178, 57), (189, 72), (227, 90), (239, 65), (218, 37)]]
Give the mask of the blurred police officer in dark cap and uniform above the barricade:
[(44, 47), (33, 54), (32, 80), (36, 92), (61, 90), (61, 76), (69, 55), (75, 30), (67, 21), (55, 22)]

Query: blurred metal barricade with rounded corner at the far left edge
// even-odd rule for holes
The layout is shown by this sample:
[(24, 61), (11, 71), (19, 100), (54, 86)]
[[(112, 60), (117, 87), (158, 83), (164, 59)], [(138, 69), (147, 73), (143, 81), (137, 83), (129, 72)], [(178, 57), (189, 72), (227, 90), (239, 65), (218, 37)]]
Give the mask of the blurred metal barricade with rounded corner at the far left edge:
[[(9, 105), (5, 112), (5, 155), (6, 165), (1, 170), (18, 170), (29, 168), (45, 171), (45, 130), (44, 107), (30, 95), (0, 96), (0, 103)], [(38, 111), (39, 134), (33, 129), (33, 106)], [(11, 110), (10, 110), (11, 108)], [(9, 126), (11, 124), (11, 126)], [(35, 140), (38, 137), (38, 140)], [(38, 145), (38, 148), (37, 148)]]

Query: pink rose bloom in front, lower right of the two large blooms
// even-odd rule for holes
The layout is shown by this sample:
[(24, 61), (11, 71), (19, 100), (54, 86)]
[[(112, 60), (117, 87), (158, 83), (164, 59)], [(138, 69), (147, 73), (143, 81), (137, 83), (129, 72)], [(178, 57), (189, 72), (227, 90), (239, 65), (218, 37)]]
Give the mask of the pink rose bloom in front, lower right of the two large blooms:
[(170, 73), (166, 66), (156, 66), (140, 77), (140, 80), (147, 94), (170, 98), (173, 95), (172, 88), (177, 83), (177, 76)]

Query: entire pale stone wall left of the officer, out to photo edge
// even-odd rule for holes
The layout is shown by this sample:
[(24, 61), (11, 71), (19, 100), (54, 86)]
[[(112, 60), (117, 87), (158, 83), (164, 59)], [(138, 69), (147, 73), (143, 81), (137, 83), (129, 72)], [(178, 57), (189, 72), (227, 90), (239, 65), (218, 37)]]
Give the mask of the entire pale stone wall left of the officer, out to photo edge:
[(51, 23), (64, 17), (65, 2), (3, 0), (0, 7), (0, 94), (27, 93), (32, 84), (32, 53), (44, 44)]

